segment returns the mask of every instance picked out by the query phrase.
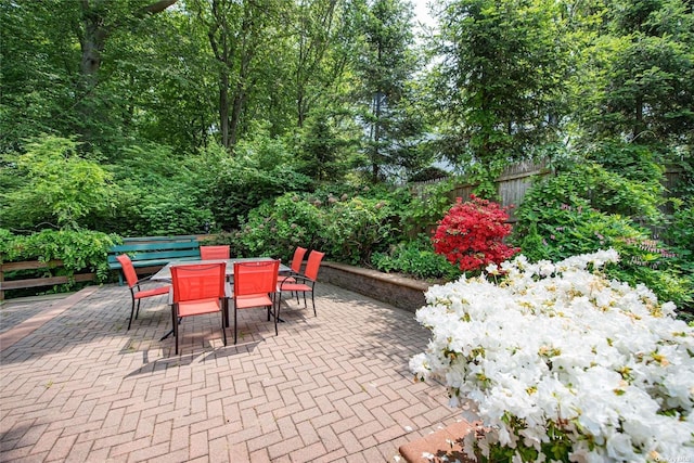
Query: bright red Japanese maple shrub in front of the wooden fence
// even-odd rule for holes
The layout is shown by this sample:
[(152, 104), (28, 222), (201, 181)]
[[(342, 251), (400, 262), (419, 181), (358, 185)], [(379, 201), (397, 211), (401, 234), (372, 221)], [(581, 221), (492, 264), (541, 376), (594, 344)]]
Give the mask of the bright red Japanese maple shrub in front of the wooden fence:
[(474, 271), (489, 263), (500, 263), (519, 252), (503, 243), (511, 233), (507, 207), (475, 195), (470, 202), (455, 200), (446, 217), (438, 222), (432, 237), (436, 254), (463, 271)]

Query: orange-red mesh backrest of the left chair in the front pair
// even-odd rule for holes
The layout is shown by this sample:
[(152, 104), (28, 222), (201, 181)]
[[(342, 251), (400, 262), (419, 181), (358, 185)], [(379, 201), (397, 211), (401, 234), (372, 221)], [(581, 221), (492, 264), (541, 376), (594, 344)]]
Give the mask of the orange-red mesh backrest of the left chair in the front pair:
[(226, 297), (226, 262), (171, 266), (174, 303)]

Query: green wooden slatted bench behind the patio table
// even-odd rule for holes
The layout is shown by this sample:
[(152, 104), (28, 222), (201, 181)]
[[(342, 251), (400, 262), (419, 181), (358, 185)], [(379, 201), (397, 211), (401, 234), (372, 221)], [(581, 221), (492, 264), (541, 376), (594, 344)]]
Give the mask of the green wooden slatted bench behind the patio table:
[[(138, 274), (154, 273), (171, 260), (200, 259), (200, 242), (195, 235), (127, 237), (108, 249), (108, 268), (120, 270), (116, 256), (127, 254)], [(118, 272), (123, 284), (123, 272)]]

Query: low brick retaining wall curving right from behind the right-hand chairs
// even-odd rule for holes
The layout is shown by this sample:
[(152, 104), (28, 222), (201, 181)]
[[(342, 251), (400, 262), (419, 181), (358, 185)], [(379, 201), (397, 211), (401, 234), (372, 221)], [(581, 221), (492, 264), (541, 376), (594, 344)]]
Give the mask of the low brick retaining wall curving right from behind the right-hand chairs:
[(337, 262), (323, 262), (319, 281), (411, 312), (425, 305), (424, 293), (430, 286), (428, 282)]

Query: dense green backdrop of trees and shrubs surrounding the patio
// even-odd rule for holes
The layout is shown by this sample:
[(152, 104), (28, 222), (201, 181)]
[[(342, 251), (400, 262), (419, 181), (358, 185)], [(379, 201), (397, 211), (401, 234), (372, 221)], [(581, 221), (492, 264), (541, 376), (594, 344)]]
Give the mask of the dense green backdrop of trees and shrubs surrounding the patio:
[[(454, 278), (421, 239), (451, 182), (396, 183), (444, 169), (498, 200), (510, 162), (542, 158), (556, 177), (528, 194), (509, 245), (558, 259), (609, 243), (620, 279), (691, 304), (685, 0), (437, 0), (436, 34), (416, 34), (401, 0), (62, 7), (0, 4), (13, 235), (210, 232), (236, 254), (288, 259), (301, 243)], [(665, 191), (670, 163), (683, 180)]]

